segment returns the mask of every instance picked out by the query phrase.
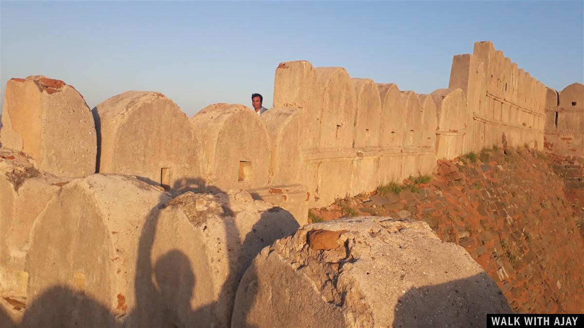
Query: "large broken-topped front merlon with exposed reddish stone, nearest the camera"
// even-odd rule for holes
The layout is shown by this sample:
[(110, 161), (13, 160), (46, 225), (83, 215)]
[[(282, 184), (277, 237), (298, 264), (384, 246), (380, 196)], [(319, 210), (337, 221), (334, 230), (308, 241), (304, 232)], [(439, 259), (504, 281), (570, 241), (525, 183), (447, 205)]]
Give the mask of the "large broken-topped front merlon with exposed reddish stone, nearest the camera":
[(358, 217), (304, 226), (253, 260), (232, 327), (484, 326), (510, 313), (465, 250), (422, 221)]

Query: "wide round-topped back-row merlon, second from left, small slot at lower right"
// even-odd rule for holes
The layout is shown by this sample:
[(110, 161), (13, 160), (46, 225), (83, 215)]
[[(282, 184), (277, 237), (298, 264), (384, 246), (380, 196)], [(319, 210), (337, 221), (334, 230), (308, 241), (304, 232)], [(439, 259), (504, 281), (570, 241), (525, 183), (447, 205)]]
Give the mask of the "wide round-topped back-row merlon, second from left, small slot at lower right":
[(93, 116), (100, 173), (134, 175), (178, 192), (202, 189), (199, 139), (171, 99), (127, 91), (98, 104)]

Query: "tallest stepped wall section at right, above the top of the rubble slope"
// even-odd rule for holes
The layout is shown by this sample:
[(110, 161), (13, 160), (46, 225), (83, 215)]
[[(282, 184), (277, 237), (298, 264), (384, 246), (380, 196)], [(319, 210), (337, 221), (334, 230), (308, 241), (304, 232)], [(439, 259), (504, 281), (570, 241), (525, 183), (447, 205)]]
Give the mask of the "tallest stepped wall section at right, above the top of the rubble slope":
[(475, 43), (472, 55), (456, 55), (449, 88), (467, 98), (464, 152), (500, 144), (543, 149), (547, 90), (489, 41)]

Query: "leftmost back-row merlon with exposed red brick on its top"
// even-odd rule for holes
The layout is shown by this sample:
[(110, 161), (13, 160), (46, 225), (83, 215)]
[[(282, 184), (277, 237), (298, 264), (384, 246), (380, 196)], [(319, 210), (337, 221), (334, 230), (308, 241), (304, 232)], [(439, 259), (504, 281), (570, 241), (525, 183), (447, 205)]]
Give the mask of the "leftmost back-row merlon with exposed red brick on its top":
[(83, 96), (60, 80), (39, 75), (6, 83), (0, 142), (26, 153), (39, 169), (53, 175), (82, 177), (95, 172), (91, 111)]

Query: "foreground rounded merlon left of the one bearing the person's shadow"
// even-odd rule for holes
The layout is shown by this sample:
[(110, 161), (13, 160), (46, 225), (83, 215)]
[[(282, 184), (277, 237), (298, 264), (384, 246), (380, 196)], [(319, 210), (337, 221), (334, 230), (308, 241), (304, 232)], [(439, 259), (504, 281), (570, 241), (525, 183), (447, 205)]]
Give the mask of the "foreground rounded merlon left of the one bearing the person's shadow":
[(34, 224), (22, 325), (112, 326), (136, 310), (138, 240), (168, 198), (127, 176), (65, 184)]

